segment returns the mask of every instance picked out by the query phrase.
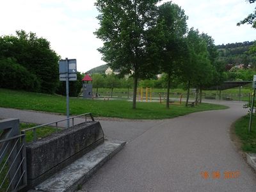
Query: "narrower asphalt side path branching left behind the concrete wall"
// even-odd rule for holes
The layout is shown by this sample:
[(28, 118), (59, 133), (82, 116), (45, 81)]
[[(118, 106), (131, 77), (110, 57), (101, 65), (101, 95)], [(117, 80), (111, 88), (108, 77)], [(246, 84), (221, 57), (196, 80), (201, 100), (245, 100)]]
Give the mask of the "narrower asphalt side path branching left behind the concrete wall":
[[(40, 113), (36, 111), (26, 111), (19, 109), (0, 108), (1, 118), (19, 118), (20, 122), (47, 124), (64, 120), (66, 116), (56, 115), (52, 113)], [(90, 117), (87, 118), (90, 120)], [(95, 118), (95, 120), (100, 120)], [(84, 122), (84, 118), (75, 118), (74, 124)], [(111, 120), (100, 120), (100, 125), (104, 131), (106, 138), (109, 140), (122, 140), (130, 142), (143, 134), (148, 129), (163, 122), (163, 120), (120, 120), (111, 118)], [(55, 124), (53, 124), (54, 126)], [(71, 120), (70, 120), (71, 125)], [(59, 127), (66, 127), (67, 122), (58, 124)]]

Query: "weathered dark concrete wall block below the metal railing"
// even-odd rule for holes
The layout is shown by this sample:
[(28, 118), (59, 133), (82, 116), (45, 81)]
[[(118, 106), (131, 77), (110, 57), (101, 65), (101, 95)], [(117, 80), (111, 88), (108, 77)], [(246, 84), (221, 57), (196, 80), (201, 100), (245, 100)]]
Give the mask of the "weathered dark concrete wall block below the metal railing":
[[(99, 122), (86, 122), (52, 134), (47, 138), (28, 143), (26, 147), (28, 179), (34, 180), (86, 148), (104, 140), (104, 133)], [(78, 156), (77, 156), (78, 157)], [(76, 160), (72, 158), (73, 160)]]

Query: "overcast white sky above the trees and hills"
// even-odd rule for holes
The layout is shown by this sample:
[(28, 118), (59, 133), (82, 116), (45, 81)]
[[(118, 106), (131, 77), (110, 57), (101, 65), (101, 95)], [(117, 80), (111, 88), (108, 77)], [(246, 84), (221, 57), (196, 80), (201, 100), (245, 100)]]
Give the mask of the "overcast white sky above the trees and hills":
[[(105, 64), (93, 35), (99, 28), (96, 0), (0, 0), (0, 36), (24, 29), (47, 38), (62, 58), (76, 58), (77, 70), (86, 72)], [(166, 1), (162, 1), (166, 2)], [(245, 0), (173, 0), (188, 15), (188, 27), (211, 35), (215, 44), (256, 40), (256, 30), (236, 23), (252, 13), (256, 3)]]

